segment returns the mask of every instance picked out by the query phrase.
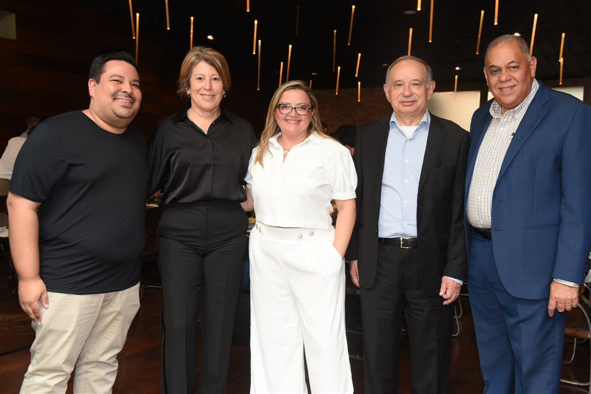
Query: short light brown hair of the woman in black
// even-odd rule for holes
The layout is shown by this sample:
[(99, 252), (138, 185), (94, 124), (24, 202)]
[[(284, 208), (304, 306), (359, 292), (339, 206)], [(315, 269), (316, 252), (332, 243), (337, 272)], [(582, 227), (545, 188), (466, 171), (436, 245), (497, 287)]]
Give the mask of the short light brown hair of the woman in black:
[(213, 48), (208, 47), (193, 47), (187, 52), (183, 64), (181, 64), (181, 72), (178, 75), (178, 89), (177, 94), (181, 97), (188, 98), (187, 90), (191, 87), (191, 73), (193, 68), (197, 66), (201, 61), (212, 66), (222, 79), (223, 90), (228, 93), (232, 86), (232, 80), (230, 77), (230, 69), (226, 58), (221, 53)]

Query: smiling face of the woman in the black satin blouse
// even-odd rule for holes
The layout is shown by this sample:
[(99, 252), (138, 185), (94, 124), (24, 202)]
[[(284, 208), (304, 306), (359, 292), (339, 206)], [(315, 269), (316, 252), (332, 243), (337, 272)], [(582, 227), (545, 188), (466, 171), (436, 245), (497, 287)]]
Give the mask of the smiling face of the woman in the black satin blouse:
[(205, 115), (217, 111), (225, 93), (222, 78), (213, 66), (200, 61), (193, 67), (187, 94), (191, 96), (191, 108), (197, 113)]

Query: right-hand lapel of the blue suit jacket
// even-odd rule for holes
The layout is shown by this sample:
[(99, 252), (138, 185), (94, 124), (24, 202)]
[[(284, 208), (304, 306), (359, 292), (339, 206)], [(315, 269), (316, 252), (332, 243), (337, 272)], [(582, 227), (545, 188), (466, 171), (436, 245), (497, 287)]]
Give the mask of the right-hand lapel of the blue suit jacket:
[(509, 144), (509, 148), (503, 159), (503, 164), (501, 165), (501, 170), (499, 170), (499, 176), (496, 178), (497, 182), (501, 179), (507, 167), (509, 167), (509, 164), (511, 164), (511, 161), (513, 161), (515, 155), (519, 152), (519, 149), (521, 149), (521, 146), (523, 146), (538, 123), (540, 123), (544, 116), (546, 116), (546, 113), (548, 113), (548, 108), (544, 106), (548, 100), (548, 88), (540, 83), (540, 87), (538, 88), (534, 99), (531, 100), (530, 106), (515, 131), (511, 144)]

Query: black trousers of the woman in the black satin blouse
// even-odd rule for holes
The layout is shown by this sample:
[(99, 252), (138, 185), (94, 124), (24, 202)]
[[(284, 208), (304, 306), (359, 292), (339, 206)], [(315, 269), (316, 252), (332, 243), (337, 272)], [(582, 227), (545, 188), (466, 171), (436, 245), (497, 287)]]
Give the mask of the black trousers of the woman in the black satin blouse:
[(248, 219), (239, 203), (169, 206), (158, 224), (163, 289), (161, 391), (225, 393)]

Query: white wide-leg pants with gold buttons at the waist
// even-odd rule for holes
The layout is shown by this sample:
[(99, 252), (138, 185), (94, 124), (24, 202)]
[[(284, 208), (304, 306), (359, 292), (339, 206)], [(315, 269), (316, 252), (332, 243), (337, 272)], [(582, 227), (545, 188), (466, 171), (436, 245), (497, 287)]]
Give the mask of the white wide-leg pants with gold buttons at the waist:
[(252, 229), (251, 393), (352, 393), (335, 230)]

